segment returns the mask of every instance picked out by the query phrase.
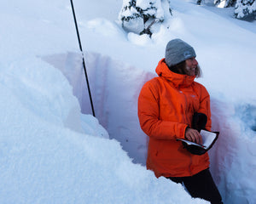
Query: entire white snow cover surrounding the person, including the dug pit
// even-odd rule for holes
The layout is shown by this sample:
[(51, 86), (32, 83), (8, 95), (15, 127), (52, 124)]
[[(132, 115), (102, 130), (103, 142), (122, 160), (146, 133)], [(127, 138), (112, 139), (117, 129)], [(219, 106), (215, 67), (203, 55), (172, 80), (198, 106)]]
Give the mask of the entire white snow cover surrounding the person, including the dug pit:
[(211, 172), (224, 203), (256, 203), (256, 22), (172, 0), (150, 39), (123, 31), (120, 0), (74, 6), (96, 118), (70, 2), (1, 3), (0, 203), (207, 203), (145, 167), (137, 96), (176, 37), (195, 48), (211, 94)]

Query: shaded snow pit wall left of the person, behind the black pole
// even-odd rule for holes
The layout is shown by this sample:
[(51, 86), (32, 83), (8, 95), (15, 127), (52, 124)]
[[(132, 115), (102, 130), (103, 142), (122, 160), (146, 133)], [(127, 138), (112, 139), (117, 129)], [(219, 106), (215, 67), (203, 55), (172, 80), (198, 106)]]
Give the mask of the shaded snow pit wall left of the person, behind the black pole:
[[(67, 77), (82, 113), (92, 114), (81, 54), (53, 54), (43, 59)], [(148, 138), (139, 126), (137, 98), (144, 82), (155, 75), (101, 54), (86, 54), (85, 65), (96, 118), (135, 163), (145, 165)]]

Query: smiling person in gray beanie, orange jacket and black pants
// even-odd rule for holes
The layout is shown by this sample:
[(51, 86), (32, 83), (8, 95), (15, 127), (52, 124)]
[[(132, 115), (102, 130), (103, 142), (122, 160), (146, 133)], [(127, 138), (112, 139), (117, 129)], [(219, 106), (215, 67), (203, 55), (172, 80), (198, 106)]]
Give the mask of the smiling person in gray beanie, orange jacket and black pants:
[(193, 197), (222, 203), (209, 171), (209, 156), (194, 155), (183, 148), (188, 139), (201, 144), (201, 134), (192, 128), (193, 117), (207, 117), (205, 129), (211, 131), (210, 96), (195, 77), (201, 69), (196, 54), (187, 42), (174, 39), (166, 45), (154, 77), (143, 85), (138, 98), (140, 125), (149, 137), (147, 168), (157, 178), (164, 176), (181, 183)]

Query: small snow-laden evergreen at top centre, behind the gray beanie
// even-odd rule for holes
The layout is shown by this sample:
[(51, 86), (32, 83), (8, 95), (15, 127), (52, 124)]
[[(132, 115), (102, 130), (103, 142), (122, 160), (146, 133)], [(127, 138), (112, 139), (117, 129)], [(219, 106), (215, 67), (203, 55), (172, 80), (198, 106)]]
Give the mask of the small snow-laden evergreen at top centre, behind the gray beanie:
[(151, 26), (163, 22), (166, 13), (172, 14), (170, 0), (123, 0), (119, 20), (126, 31), (151, 36)]

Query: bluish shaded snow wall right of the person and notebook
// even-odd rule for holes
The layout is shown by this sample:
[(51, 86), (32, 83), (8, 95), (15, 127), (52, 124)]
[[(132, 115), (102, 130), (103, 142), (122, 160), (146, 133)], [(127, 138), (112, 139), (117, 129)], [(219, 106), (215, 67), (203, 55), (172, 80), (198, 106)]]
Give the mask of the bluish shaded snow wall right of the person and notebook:
[[(249, 124), (255, 122), (255, 106), (228, 101), (220, 96), (212, 99), (212, 129), (220, 131), (220, 135), (209, 150), (211, 172), (224, 203), (254, 203), (256, 150), (252, 147), (256, 138)], [(245, 119), (247, 115), (253, 116)]]

